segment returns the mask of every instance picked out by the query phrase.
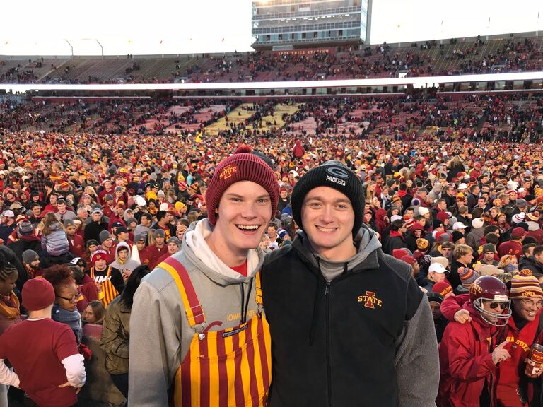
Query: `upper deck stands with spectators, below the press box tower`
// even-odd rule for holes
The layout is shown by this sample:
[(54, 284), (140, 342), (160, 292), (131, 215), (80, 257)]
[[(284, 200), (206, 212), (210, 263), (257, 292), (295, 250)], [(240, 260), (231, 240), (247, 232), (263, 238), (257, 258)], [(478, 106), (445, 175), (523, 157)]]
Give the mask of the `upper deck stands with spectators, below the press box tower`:
[[(323, 48), (317, 52), (258, 51), (246, 54), (207, 55), (171, 58), (171, 71), (157, 66), (155, 70), (140, 69), (137, 61), (117, 59), (105, 61), (103, 69), (110, 66), (111, 76), (100, 78), (89, 75), (88, 69), (59, 64), (51, 60), (50, 71), (44, 75), (44, 59), (30, 60), (28, 64), (7, 64), (0, 61), (0, 82), (4, 83), (117, 83), (119, 66), (124, 68), (124, 83), (165, 83), (180, 80), (187, 82), (246, 82), (246, 81), (320, 81), (344, 78), (387, 78), (399, 72), (408, 76), (442, 76), (469, 73), (497, 73), (535, 71), (543, 67), (539, 37), (498, 38), (492, 40), (449, 40), (438, 45), (426, 41), (412, 45), (386, 43), (370, 47), (343, 46)], [(108, 63), (113, 65), (108, 65)], [(94, 64), (94, 62), (93, 62)], [(57, 68), (55, 65), (59, 65)], [(39, 68), (38, 78), (34, 69)], [(98, 74), (95, 73), (95, 74)]]

